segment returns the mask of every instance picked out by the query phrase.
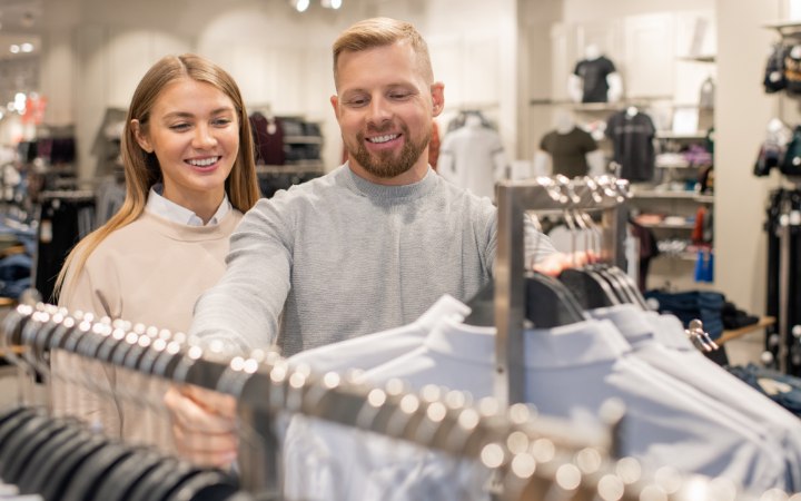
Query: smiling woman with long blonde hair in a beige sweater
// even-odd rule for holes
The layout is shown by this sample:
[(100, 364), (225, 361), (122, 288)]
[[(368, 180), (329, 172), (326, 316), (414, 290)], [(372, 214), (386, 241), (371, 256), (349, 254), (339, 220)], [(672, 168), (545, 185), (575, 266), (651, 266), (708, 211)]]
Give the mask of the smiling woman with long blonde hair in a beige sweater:
[[(125, 203), (67, 257), (59, 305), (185, 332), (195, 301), (225, 271), (228, 237), (259, 198), (250, 126), (234, 79), (195, 55), (160, 59), (134, 92), (122, 163)], [(53, 358), (55, 385), (59, 374), (80, 374), (93, 383), (100, 375), (102, 387), (103, 373), (113, 397), (68, 385), (53, 392), (55, 407), (112, 435), (160, 442), (162, 426), (148, 430), (141, 412), (126, 412), (117, 396), (125, 387), (158, 405), (164, 389), (134, 383), (135, 375), (122, 385), (116, 371), (77, 355)]]

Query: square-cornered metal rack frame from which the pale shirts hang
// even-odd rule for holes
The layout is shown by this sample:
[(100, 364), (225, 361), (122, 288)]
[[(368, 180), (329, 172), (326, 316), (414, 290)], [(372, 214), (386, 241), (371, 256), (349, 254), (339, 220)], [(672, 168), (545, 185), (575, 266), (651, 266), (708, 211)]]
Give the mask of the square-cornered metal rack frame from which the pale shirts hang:
[(527, 210), (603, 210), (601, 258), (621, 265), (629, 197), (626, 180), (610, 176), (567, 179), (537, 177), (497, 186), (497, 254), (495, 257), (495, 396), (504, 404), (524, 402), (523, 328), (525, 318), (523, 216)]

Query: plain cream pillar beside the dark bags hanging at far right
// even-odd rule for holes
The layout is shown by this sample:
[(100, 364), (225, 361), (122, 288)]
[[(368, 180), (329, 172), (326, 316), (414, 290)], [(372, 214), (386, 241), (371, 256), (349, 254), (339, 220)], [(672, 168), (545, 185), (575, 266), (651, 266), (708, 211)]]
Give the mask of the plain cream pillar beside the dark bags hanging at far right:
[(780, 1), (718, 0), (715, 102), (715, 285), (731, 301), (763, 313), (768, 191), (778, 178), (751, 173), (779, 96), (765, 95), (762, 75), (775, 35), (761, 24), (779, 20)]

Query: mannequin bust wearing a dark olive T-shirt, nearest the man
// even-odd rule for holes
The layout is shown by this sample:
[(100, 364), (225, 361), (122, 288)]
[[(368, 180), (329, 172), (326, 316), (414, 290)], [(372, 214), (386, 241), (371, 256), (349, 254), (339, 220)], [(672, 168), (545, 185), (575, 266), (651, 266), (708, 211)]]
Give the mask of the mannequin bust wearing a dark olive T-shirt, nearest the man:
[(576, 127), (570, 111), (557, 110), (554, 130), (546, 134), (534, 154), (534, 176), (563, 174), (567, 177), (600, 176), (605, 173), (603, 151), (590, 132)]

